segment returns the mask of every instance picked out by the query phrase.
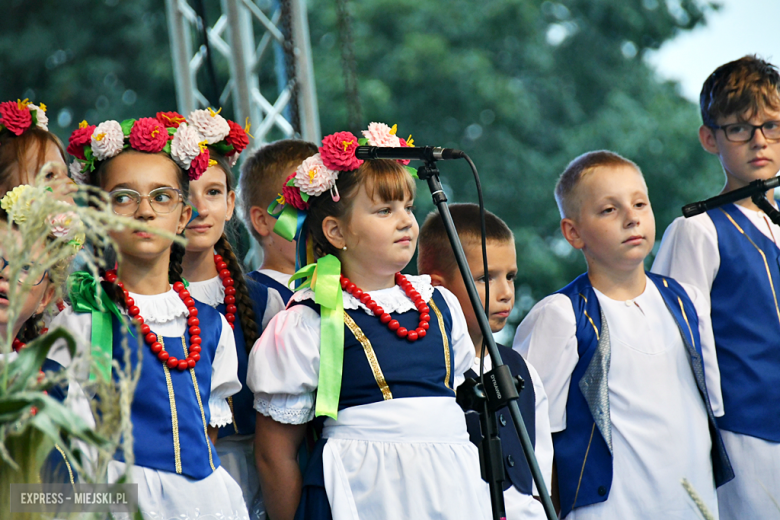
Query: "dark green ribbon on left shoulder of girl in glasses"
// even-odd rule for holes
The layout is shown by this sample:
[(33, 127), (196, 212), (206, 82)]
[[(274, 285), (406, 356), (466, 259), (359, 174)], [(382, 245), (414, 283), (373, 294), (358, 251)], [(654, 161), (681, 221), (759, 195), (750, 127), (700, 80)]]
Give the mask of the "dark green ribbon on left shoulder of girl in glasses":
[[(114, 339), (111, 314), (116, 315), (120, 321), (123, 317), (110, 298), (98, 298), (97, 285), (95, 277), (87, 271), (76, 271), (68, 277), (68, 295), (74, 312), (92, 313), (92, 359), (98, 374), (108, 381), (111, 378)], [(90, 371), (89, 379), (95, 379), (94, 372)]]

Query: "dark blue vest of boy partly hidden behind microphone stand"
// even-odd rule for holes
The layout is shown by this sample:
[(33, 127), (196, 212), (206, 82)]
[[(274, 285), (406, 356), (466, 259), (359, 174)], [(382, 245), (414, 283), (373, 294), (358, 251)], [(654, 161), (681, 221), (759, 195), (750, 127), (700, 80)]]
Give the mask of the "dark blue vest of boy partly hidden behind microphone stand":
[[(517, 404), (520, 407), (525, 428), (528, 430), (528, 436), (531, 438), (531, 444), (536, 446), (536, 393), (531, 374), (528, 372), (523, 356), (511, 348), (503, 345), (497, 346), (501, 353), (501, 359), (509, 366), (512, 375), (520, 376), (525, 381)], [(469, 369), (464, 375), (479, 380), (479, 375), (472, 369)], [(515, 486), (524, 495), (530, 495), (533, 492), (531, 468), (528, 467), (528, 461), (525, 458), (523, 446), (520, 444), (520, 438), (517, 436), (515, 425), (512, 423), (509, 408), (504, 407), (498, 410), (496, 417), (498, 418), (498, 434), (501, 437), (501, 450), (504, 455), (504, 470), (508, 477), (504, 481), (504, 491), (510, 486)], [(482, 441), (482, 429), (479, 424), (479, 415), (476, 412), (466, 414), (466, 427), (469, 430), (471, 442), (479, 446)]]

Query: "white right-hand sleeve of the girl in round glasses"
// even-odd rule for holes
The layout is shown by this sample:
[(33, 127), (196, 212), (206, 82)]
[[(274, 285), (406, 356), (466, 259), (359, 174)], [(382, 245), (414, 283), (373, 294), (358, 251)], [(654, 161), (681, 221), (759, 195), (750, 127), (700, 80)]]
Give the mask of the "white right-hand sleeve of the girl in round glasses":
[(222, 322), (222, 331), (219, 335), (217, 351), (214, 353), (214, 361), (211, 363), (211, 394), (209, 395), (211, 412), (209, 425), (215, 428), (233, 422), (233, 414), (230, 412), (227, 398), (241, 390), (233, 329), (222, 314), (219, 318)]

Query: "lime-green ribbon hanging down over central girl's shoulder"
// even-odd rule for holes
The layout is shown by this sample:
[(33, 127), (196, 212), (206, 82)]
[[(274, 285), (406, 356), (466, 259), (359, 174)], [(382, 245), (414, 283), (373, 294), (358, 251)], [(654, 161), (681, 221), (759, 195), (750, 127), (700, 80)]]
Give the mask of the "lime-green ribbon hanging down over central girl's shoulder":
[(344, 300), (341, 289), (341, 262), (326, 255), (291, 278), (305, 278), (298, 290), (311, 287), (314, 303), (320, 306), (320, 373), (317, 383), (315, 416), (338, 417), (341, 374), (344, 365)]

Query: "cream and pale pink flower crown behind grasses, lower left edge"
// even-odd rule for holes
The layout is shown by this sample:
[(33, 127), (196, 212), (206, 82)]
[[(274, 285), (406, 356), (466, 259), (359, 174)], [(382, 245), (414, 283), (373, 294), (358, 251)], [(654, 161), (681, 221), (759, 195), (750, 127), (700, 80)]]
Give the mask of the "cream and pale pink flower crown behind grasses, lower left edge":
[[(47, 188), (51, 191), (51, 188)], [(8, 214), (8, 222), (21, 225), (34, 216), (33, 202), (38, 189), (29, 184), (22, 184), (7, 192), (0, 199), (0, 208)], [(67, 239), (62, 242), (73, 248), (75, 254), (86, 240), (83, 225), (78, 216), (71, 212), (57, 213), (46, 218), (50, 233), (57, 239)]]

